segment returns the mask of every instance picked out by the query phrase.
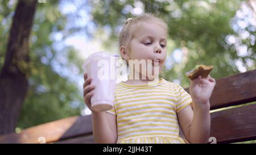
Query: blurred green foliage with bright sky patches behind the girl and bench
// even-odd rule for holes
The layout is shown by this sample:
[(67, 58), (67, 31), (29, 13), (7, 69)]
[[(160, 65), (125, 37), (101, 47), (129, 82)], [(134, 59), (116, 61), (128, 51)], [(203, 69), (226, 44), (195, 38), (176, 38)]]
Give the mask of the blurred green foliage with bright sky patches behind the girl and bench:
[[(0, 72), (18, 1), (0, 2)], [(88, 115), (82, 99), (82, 63), (90, 54), (118, 52), (127, 18), (153, 12), (169, 27), (162, 77), (189, 86), (185, 72), (213, 65), (213, 78), (255, 69), (255, 2), (38, 1), (30, 36), (28, 91), (16, 132), (74, 115)]]

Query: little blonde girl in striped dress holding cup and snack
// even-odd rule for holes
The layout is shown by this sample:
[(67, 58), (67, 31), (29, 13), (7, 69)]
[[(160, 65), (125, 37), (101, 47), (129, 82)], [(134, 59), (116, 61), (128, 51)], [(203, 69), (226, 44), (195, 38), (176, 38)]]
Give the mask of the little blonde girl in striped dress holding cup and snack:
[[(159, 64), (161, 71), (166, 60), (167, 31), (167, 24), (151, 14), (127, 20), (119, 35), (122, 58), (127, 63), (153, 60), (151, 65)], [(181, 86), (164, 78), (152, 83), (154, 80), (141, 70), (134, 69), (133, 74), (139, 79), (129, 76), (127, 81), (116, 85), (112, 110), (92, 111), (96, 143), (208, 142), (209, 98), (216, 83), (213, 78), (199, 76), (190, 80), (189, 95)], [(84, 79), (84, 100), (90, 108), (93, 79), (87, 78), (86, 73)], [(180, 129), (185, 137), (180, 136)]]

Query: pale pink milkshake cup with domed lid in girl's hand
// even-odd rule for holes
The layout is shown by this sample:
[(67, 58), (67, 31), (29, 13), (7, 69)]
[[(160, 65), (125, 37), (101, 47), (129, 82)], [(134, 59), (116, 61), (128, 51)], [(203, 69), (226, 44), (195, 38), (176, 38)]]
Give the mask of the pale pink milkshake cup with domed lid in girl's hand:
[(106, 52), (96, 52), (85, 60), (83, 68), (88, 78), (92, 78), (91, 84), (95, 86), (90, 99), (94, 111), (106, 111), (114, 106), (115, 62), (118, 57)]

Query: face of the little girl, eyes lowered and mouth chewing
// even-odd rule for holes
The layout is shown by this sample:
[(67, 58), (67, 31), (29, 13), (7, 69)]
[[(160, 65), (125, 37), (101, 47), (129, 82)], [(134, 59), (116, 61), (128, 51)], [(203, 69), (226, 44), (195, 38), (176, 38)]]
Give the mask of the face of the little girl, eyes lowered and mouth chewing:
[[(143, 22), (137, 26), (134, 32), (134, 37), (130, 41), (129, 57), (131, 60), (159, 60), (159, 73), (163, 69), (164, 61), (166, 60), (166, 43), (167, 32), (166, 29), (159, 23)], [(147, 65), (157, 64), (158, 61), (152, 61)], [(135, 71), (138, 69), (134, 69)], [(139, 69), (139, 72), (142, 70)], [(151, 72), (148, 71), (147, 72)], [(154, 72), (154, 71), (152, 71)], [(143, 73), (142, 73), (143, 74)], [(154, 73), (152, 73), (154, 74)]]

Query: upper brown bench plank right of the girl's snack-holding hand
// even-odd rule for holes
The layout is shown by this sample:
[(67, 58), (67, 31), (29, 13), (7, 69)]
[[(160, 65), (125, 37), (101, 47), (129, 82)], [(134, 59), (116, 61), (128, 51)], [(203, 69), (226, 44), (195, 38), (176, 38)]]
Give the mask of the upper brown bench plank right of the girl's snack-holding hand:
[[(256, 69), (216, 80), (211, 110), (253, 102), (256, 100)], [(185, 89), (189, 93), (189, 88)]]

